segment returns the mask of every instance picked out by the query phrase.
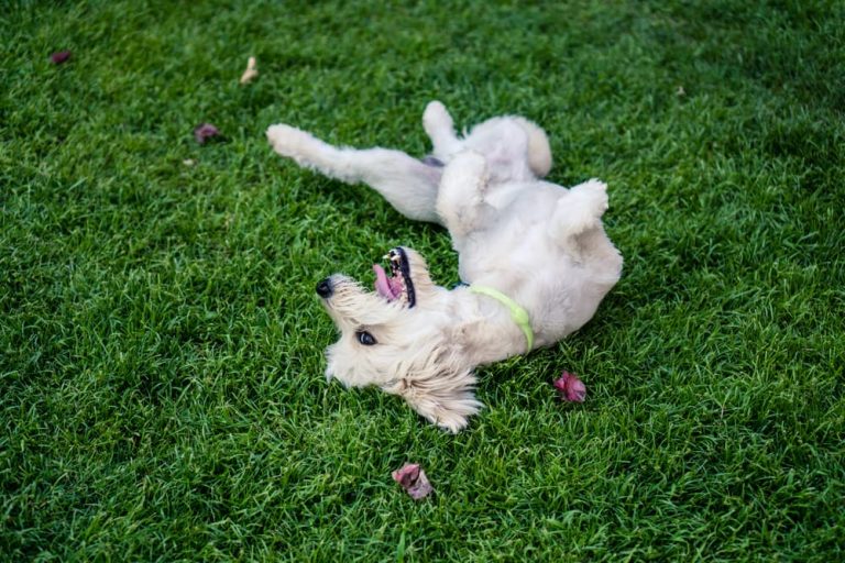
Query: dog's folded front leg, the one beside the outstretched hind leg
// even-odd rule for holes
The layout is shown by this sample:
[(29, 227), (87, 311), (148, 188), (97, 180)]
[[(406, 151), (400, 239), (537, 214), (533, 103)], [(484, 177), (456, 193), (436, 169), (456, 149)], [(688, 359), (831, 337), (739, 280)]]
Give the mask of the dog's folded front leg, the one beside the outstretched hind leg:
[(487, 161), (479, 153), (463, 151), (446, 166), (437, 197), (437, 212), (453, 240), (460, 240), (484, 224), (494, 209), (484, 201)]

